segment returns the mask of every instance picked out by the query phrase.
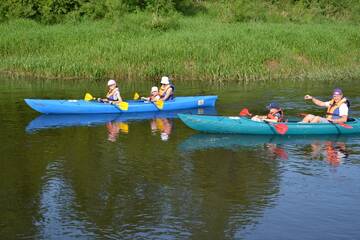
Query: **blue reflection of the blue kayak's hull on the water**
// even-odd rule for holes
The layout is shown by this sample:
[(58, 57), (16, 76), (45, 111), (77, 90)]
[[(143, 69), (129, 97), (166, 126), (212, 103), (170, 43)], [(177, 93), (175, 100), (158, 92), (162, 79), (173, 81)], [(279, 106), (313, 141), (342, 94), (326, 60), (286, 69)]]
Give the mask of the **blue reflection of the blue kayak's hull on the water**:
[(33, 119), (26, 127), (26, 132), (31, 133), (43, 129), (97, 126), (108, 122), (132, 122), (156, 118), (177, 118), (179, 113), (191, 114), (216, 114), (214, 107), (194, 108), (179, 111), (159, 111), (145, 113), (113, 113), (113, 114), (61, 114), (40, 115)]

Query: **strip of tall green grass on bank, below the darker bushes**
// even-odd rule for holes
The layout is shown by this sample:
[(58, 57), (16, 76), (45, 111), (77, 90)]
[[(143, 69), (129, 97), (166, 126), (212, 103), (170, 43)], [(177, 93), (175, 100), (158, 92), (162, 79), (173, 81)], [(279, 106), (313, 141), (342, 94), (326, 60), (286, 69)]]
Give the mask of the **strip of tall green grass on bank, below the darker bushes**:
[(42, 25), (0, 24), (0, 72), (12, 76), (251, 82), (360, 77), (351, 24), (225, 23), (204, 15), (146, 27), (146, 15)]

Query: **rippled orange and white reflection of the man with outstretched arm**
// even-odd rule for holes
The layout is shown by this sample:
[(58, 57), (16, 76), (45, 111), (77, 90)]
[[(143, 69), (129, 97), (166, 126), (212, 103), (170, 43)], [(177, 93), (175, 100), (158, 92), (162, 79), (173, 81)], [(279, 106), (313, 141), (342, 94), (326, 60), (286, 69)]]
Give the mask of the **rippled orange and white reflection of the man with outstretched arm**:
[(326, 159), (331, 166), (335, 167), (349, 156), (344, 142), (312, 143), (311, 150), (313, 159)]

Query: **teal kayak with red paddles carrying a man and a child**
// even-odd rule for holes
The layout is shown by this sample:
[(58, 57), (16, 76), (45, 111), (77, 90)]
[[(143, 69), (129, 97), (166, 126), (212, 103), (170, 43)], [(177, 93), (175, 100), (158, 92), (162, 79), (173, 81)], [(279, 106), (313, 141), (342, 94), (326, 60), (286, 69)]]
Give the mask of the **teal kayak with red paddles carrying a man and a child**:
[[(275, 124), (256, 122), (245, 117), (207, 116), (179, 114), (190, 128), (208, 133), (232, 133), (249, 135), (279, 135)], [(346, 127), (333, 123), (287, 122), (285, 135), (359, 134), (360, 120), (351, 119)]]

